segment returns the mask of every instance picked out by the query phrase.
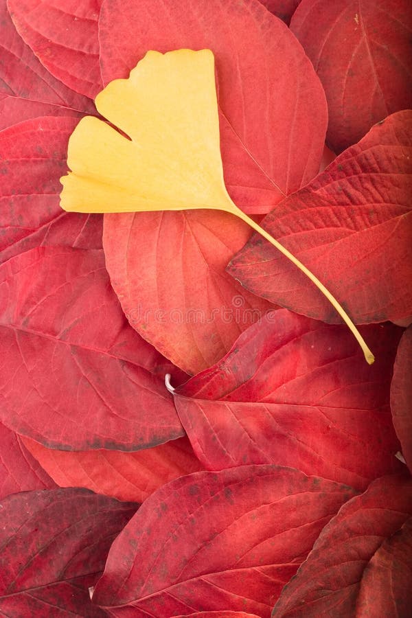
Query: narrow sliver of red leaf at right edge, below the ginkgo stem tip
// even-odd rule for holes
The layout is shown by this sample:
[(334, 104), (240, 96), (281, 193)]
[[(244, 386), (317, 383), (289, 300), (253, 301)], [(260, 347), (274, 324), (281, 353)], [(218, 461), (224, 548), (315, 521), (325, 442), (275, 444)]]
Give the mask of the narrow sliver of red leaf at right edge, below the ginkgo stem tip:
[(409, 470), (412, 471), (412, 326), (402, 335), (393, 367), (391, 410)]

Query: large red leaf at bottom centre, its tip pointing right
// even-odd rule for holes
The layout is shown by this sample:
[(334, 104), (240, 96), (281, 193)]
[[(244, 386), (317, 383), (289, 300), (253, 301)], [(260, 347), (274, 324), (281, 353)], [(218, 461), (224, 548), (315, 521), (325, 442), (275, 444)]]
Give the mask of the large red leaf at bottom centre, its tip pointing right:
[(266, 618), (351, 494), (277, 466), (176, 479), (149, 496), (119, 534), (93, 602), (152, 618), (228, 608)]

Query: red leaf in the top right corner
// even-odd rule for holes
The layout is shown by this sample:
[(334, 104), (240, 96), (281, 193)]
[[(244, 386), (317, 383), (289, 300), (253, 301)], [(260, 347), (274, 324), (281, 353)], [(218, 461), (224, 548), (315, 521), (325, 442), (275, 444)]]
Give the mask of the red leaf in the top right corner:
[(335, 152), (412, 107), (409, 0), (302, 0), (290, 28), (325, 89)]

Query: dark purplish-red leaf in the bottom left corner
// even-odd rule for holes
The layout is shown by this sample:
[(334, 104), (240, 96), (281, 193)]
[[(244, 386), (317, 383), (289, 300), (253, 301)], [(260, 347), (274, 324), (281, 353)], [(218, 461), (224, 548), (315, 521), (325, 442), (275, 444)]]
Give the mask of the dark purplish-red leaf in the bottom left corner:
[(93, 586), (137, 505), (78, 488), (13, 494), (0, 510), (0, 613), (104, 617)]

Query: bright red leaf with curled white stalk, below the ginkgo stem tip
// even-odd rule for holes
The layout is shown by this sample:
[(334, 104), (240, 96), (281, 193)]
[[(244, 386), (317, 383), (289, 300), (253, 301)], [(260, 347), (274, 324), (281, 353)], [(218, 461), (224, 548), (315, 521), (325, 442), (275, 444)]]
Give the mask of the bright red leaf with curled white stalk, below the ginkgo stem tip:
[(402, 469), (389, 409), (400, 329), (363, 334), (373, 366), (343, 326), (283, 309), (251, 326), (222, 361), (174, 393), (204, 466), (297, 466), (359, 490)]

